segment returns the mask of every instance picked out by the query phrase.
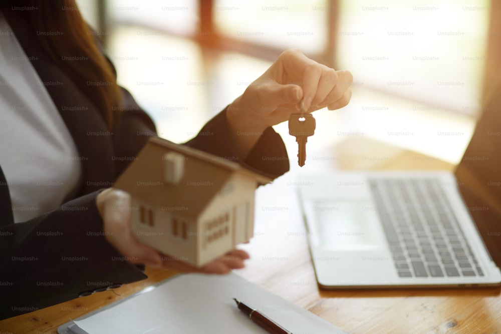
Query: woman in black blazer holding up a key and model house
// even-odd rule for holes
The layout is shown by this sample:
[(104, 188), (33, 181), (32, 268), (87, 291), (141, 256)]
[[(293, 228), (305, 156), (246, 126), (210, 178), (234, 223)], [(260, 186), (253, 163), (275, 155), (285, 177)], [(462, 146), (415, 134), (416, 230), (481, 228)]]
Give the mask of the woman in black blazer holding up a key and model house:
[[(135, 156), (153, 122), (116, 84), (94, 34), (68, 10), (74, 1), (1, 6), (0, 318), (144, 279), (141, 264), (241, 268), (241, 250), (194, 268), (134, 238), (130, 197), (111, 186), (130, 161), (116, 157)], [(347, 71), (287, 50), (200, 131), (213, 135), (185, 145), (278, 177), (287, 160), (262, 158), (287, 155), (271, 126), (301, 101), (308, 112), (345, 106), (351, 81)]]

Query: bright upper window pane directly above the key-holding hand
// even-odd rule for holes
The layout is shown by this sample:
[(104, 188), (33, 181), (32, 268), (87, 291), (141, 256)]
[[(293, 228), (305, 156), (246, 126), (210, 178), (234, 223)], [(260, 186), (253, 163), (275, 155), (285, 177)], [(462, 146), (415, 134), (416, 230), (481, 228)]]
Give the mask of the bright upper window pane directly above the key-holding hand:
[(217, 32), (235, 41), (321, 54), (327, 47), (327, 9), (325, 0), (216, 0), (213, 19)]

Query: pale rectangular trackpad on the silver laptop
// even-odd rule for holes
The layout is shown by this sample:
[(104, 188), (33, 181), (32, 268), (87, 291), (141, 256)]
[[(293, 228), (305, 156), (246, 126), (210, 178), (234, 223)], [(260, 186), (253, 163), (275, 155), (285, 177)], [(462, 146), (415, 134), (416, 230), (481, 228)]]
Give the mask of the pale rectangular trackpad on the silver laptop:
[[(320, 203), (316, 203), (317, 205)], [(368, 202), (323, 202), (322, 207), (332, 210), (318, 210), (314, 213), (312, 235), (322, 250), (371, 250), (386, 247), (386, 239), (379, 228), (375, 208)]]

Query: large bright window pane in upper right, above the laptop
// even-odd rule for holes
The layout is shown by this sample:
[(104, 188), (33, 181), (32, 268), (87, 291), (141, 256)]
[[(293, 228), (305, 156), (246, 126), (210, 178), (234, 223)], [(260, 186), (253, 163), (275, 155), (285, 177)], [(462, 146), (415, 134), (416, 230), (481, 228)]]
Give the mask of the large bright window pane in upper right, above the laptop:
[(337, 66), (389, 95), (480, 109), (488, 0), (340, 0)]

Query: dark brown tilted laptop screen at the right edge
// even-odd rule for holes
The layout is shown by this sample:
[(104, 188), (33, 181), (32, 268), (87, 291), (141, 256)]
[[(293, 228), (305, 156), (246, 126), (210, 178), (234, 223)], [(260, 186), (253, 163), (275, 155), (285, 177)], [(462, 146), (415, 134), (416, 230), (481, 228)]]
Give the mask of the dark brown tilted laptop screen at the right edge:
[(483, 241), (501, 267), (501, 89), (485, 106), (455, 175)]

